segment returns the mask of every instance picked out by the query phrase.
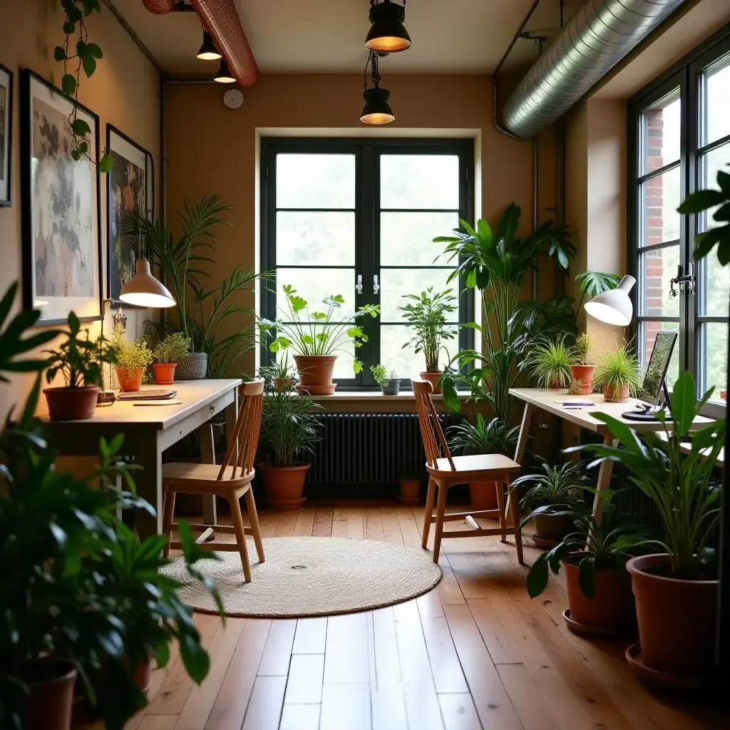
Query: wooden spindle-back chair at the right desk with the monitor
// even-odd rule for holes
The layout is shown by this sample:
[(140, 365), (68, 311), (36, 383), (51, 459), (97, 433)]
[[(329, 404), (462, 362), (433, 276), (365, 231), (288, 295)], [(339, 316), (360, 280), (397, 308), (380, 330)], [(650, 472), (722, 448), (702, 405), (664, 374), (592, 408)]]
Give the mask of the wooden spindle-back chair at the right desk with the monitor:
[[(504, 485), (509, 492), (512, 475), (520, 471), (520, 465), (502, 454), (484, 454), (482, 456), (451, 456), (446, 444), (443, 429), (431, 400), (433, 385), (426, 380), (412, 380), (415, 403), (418, 408), (418, 424), (423, 437), (423, 447), (426, 450), (426, 471), (429, 472), (429, 491), (426, 495), (426, 515), (423, 519), (423, 548), (429, 541), (429, 529), (435, 522), (434, 534), (434, 563), (439, 561), (441, 541), (445, 537), (481, 537), (483, 535), (501, 535), (502, 542), (507, 542), (507, 509), (504, 504)], [(443, 451), (444, 456), (441, 456)], [(477, 512), (458, 512), (445, 514), (446, 496), (451, 487), (456, 484), (470, 482), (491, 482), (496, 484), (497, 510), (479, 510)], [(434, 516), (434, 498), (438, 489), (436, 515)], [(517, 558), (522, 558), (522, 533), (520, 532), (520, 514), (515, 499), (508, 493), (508, 509), (512, 519), (509, 528), (515, 534)], [(475, 516), (499, 516), (499, 528), (481, 528)], [(452, 520), (466, 520), (472, 527), (469, 530), (444, 531), (444, 523)]]

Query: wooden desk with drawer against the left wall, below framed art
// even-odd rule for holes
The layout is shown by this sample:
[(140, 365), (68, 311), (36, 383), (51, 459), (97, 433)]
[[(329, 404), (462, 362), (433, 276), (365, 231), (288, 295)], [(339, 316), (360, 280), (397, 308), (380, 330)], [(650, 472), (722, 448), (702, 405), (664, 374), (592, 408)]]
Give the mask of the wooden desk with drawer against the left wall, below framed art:
[[(230, 437), (238, 415), (241, 383), (238, 378), (182, 381), (167, 386), (177, 390), (172, 401), (115, 401), (110, 406), (98, 407), (88, 420), (47, 421), (50, 442), (63, 456), (98, 456), (102, 436), (109, 441), (124, 434), (121, 453), (134, 457), (134, 463), (142, 467), (134, 474), (137, 494), (157, 512), (153, 518), (144, 510), (138, 511), (137, 530), (144, 538), (162, 531), (162, 452), (199, 429), (201, 459), (212, 464), (215, 450), (207, 424), (214, 415), (225, 411), (226, 439)], [(142, 386), (143, 390), (159, 388)], [(205, 523), (217, 524), (214, 497), (204, 497), (203, 510)]]

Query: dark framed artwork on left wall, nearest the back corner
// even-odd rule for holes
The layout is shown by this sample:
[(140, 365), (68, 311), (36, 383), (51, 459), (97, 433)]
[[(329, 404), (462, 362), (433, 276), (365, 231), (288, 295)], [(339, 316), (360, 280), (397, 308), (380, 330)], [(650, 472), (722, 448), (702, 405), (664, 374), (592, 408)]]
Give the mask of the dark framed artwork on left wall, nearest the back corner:
[(152, 156), (111, 124), (107, 124), (107, 148), (114, 161), (107, 174), (107, 296), (116, 302), (134, 276), (139, 251), (137, 241), (124, 235), (126, 220), (135, 213), (151, 215)]

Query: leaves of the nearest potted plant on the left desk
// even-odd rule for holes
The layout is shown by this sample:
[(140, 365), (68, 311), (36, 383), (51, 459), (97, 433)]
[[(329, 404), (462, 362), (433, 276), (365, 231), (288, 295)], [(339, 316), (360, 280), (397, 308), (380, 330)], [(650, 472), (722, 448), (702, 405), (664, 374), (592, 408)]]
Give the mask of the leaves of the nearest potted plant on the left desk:
[(61, 372), (69, 388), (85, 388), (87, 385), (104, 387), (104, 376), (101, 367), (104, 363), (118, 363), (118, 351), (104, 337), (90, 339), (88, 329), (81, 330), (79, 319), (69, 314), (69, 331), (64, 332), (66, 340), (56, 350), (45, 350), (48, 353), (46, 380)]

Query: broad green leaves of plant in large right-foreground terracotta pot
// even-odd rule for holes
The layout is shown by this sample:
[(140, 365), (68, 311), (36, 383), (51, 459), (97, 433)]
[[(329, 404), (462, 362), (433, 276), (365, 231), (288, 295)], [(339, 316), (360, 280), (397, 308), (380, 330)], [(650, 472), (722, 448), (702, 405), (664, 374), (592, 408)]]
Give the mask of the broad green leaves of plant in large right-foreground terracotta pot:
[[(668, 553), (672, 575), (685, 580), (715, 575), (715, 550), (708, 540), (720, 520), (721, 488), (712, 485), (710, 477), (725, 444), (726, 422), (721, 418), (691, 431), (711, 395), (712, 389), (698, 401), (694, 377), (683, 372), (669, 398), (669, 416), (664, 411), (657, 414), (665, 421), (664, 439), (649, 433), (639, 437), (620, 420), (593, 412), (593, 418), (607, 424), (620, 447), (591, 444), (569, 449), (588, 450), (597, 457), (595, 464), (610, 459), (626, 466), (631, 480), (654, 503), (664, 527), (660, 539), (643, 544)], [(685, 454), (681, 445), (690, 434)]]

